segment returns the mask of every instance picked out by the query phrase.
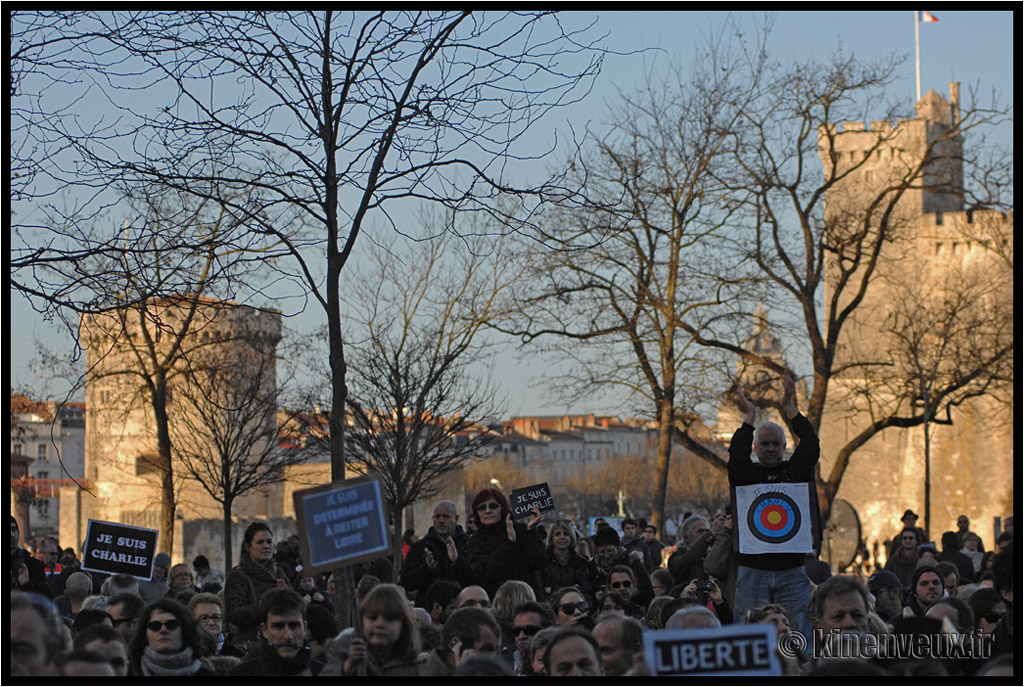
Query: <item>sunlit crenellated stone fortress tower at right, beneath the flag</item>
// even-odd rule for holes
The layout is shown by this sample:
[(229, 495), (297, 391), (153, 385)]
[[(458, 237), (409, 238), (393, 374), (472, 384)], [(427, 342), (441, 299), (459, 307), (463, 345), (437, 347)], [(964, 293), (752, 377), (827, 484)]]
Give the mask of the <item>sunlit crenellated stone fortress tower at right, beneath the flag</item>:
[[(1012, 308), (1012, 259), (1000, 255), (1012, 255), (1013, 214), (964, 208), (957, 84), (950, 85), (949, 100), (929, 91), (918, 102), (916, 114), (896, 125), (871, 122), (865, 128), (862, 122), (847, 122), (819, 132), (826, 178), (837, 174), (825, 199), (826, 221), (834, 230), (877, 231), (884, 213), (889, 220), (888, 240), (864, 301), (845, 325), (837, 369), (869, 360), (876, 370), (895, 371), (902, 362), (894, 323), (907, 301), (931, 298), (933, 304), (941, 303), (966, 289), (959, 285), (968, 278), (984, 284), (980, 298)], [(901, 182), (906, 189), (900, 196), (886, 190)], [(872, 208), (870, 202), (879, 199), (882, 202)], [(839, 259), (826, 268), (826, 301), (840, 272)], [(831, 382), (821, 425), (823, 474), (831, 469), (839, 448), (878, 417), (881, 405), (897, 402), (897, 395), (887, 399), (884, 391), (870, 403), (855, 393), (868, 383), (866, 375), (877, 375), (878, 385), (886, 374), (866, 370), (848, 370)], [(955, 529), (956, 516), (963, 513), (991, 547), (993, 518), (1012, 512), (1013, 419), (1007, 403), (989, 396), (968, 400), (950, 419), (952, 424), (929, 425), (929, 534), (937, 542), (943, 531)], [(924, 513), (924, 463), (922, 427), (885, 429), (854, 454), (837, 496), (857, 509), (869, 546), (898, 531), (905, 509)]]

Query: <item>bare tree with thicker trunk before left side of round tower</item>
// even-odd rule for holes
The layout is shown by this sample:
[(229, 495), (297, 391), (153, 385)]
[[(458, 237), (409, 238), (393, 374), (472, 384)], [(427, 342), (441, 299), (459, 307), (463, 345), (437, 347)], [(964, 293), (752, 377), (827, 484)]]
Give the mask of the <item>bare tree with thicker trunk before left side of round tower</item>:
[[(93, 388), (90, 409), (103, 407), (109, 417), (148, 406), (156, 445), (142, 455), (151, 457), (143, 460), (148, 461), (157, 477), (160, 541), (170, 551), (174, 543), (177, 486), (168, 416), (169, 388), (197, 351), (222, 343), (200, 334), (224, 310), (233, 309), (234, 304), (209, 296), (224, 287), (234, 266), (222, 263), (224, 247), (218, 235), (227, 232), (225, 223), (229, 223), (222, 207), (218, 211), (212, 202), (175, 206), (175, 201), (195, 199), (155, 190), (156, 194), (137, 204), (140, 208), (137, 235), (125, 238), (129, 243), (144, 244), (141, 252), (148, 259), (146, 264), (130, 260), (138, 255), (132, 251), (119, 254), (113, 263), (108, 263), (109, 256), (90, 254), (83, 255), (77, 263), (66, 264), (74, 263), (76, 271), (102, 274), (108, 280), (101, 288), (94, 285), (97, 287), (94, 293), (101, 294), (97, 306), (122, 295), (122, 302), (112, 307), (93, 312), (89, 306), (82, 310), (78, 336), (87, 348), (88, 358), (87, 371), (80, 382), (87, 389)], [(182, 245), (178, 238), (184, 234), (193, 239)], [(208, 237), (205, 250), (203, 243), (195, 240), (197, 235)], [(175, 287), (168, 290), (170, 283)], [(155, 295), (176, 292), (186, 285), (190, 288), (184, 293)], [(112, 294), (109, 290), (115, 287), (119, 291)], [(98, 394), (102, 392), (97, 389), (101, 386), (116, 387), (120, 410), (100, 401)]]

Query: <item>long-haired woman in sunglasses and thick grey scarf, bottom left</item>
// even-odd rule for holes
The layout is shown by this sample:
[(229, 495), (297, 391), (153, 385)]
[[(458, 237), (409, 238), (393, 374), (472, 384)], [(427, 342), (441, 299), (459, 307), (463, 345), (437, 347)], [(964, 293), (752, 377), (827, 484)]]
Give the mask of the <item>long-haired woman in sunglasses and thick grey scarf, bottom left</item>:
[(135, 676), (215, 675), (200, 658), (201, 635), (188, 609), (174, 599), (157, 599), (142, 609), (130, 647)]

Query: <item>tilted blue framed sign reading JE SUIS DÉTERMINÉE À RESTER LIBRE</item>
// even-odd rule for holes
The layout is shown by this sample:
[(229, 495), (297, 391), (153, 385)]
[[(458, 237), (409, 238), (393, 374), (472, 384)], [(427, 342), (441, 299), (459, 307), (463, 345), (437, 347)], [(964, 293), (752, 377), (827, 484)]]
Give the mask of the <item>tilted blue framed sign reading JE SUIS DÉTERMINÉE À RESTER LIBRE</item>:
[(375, 477), (296, 491), (303, 571), (324, 572), (391, 553), (384, 495)]

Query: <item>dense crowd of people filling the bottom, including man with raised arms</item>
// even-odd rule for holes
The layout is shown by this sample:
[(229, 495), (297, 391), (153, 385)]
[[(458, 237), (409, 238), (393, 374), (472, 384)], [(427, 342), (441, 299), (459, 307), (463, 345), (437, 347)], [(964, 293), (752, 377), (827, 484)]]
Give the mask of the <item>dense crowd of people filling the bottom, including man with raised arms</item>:
[[(813, 493), (817, 437), (793, 404), (792, 380), (782, 386), (799, 444), (787, 456), (781, 427), (755, 428), (740, 391), (733, 487)], [(387, 559), (361, 564), (355, 598), (340, 599), (332, 576), (303, 569), (298, 535), (279, 544), (262, 521), (245, 530), (226, 574), (204, 556), (172, 565), (159, 554), (152, 578), (139, 581), (85, 572), (52, 539), (30, 555), (11, 517), (11, 675), (642, 676), (653, 674), (648, 633), (710, 637), (744, 624), (774, 630), (785, 675), (1013, 675), (1012, 517), (986, 552), (967, 516), (936, 548), (908, 510), (887, 563), (866, 582), (833, 574), (813, 554), (744, 552), (727, 513), (691, 514), (673, 548), (633, 518), (618, 530), (597, 519), (593, 532), (539, 511), (517, 520), (496, 488), (479, 491), (465, 519), (440, 501), (432, 520), (422, 539), (403, 538), (397, 579)], [(355, 609), (350, 628), (336, 621), (342, 603)], [(912, 639), (923, 636), (933, 650), (951, 649), (833, 651), (833, 640), (869, 636), (919, 648)]]

